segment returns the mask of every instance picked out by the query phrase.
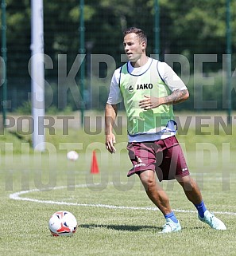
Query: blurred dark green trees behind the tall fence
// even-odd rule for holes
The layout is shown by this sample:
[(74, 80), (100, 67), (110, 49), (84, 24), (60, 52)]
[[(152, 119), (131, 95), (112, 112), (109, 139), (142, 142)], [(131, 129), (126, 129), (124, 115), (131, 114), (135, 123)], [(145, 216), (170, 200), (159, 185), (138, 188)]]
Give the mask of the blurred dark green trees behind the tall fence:
[[(6, 0), (7, 72), (9, 111), (26, 113), (30, 110), (31, 82), (31, 6), (29, 0)], [(224, 108), (222, 55), (226, 54), (226, 1), (225, 0), (159, 0), (160, 7), (160, 60), (166, 54), (181, 54), (188, 59), (190, 77), (186, 83), (190, 100), (176, 106), (178, 109), (208, 109), (198, 103), (195, 54), (217, 54), (217, 61), (203, 66), (204, 77), (214, 77), (211, 86), (203, 86), (203, 98), (216, 100), (215, 109)], [(137, 26), (148, 35), (148, 53), (154, 49), (154, 0), (85, 0), (84, 26), (86, 47), (85, 106), (81, 104), (79, 72), (72, 85), (59, 83), (60, 57), (66, 54), (64, 69), (69, 74), (79, 54), (79, 0), (44, 1), (44, 53), (52, 59), (53, 68), (45, 69), (46, 111), (56, 112), (69, 108), (103, 109), (109, 91), (110, 78), (122, 64), (122, 31)], [(236, 66), (236, 1), (231, 1), (232, 71)], [(100, 63), (99, 72), (91, 69), (91, 54), (106, 54), (115, 65)], [(59, 67), (60, 66), (60, 67)], [(181, 65), (175, 65), (181, 73)], [(234, 77), (236, 74), (234, 73)], [(72, 77), (73, 78), (73, 77)], [(184, 77), (182, 77), (184, 79)], [(235, 80), (233, 81), (235, 84)], [(76, 88), (74, 88), (76, 87)], [(235, 85), (234, 85), (235, 87)], [(236, 109), (235, 91), (233, 109)], [(93, 103), (97, 104), (93, 104)], [(28, 109), (28, 110), (27, 110)], [(215, 110), (214, 109), (214, 110)]]

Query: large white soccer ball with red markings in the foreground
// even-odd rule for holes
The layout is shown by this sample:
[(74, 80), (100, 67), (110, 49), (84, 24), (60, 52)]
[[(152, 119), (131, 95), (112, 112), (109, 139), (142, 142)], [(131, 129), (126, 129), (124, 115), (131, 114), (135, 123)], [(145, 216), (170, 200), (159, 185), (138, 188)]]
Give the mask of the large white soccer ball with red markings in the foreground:
[(77, 229), (77, 220), (69, 211), (56, 211), (48, 222), (53, 236), (72, 236)]

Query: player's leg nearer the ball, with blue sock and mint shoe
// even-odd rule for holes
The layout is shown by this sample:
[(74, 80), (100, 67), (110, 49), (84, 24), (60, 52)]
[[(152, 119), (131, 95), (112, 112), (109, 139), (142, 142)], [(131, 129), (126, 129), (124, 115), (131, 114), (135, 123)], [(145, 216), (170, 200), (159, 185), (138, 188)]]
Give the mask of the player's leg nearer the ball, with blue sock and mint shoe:
[(145, 187), (149, 199), (152, 200), (164, 215), (166, 223), (164, 224), (161, 233), (170, 233), (181, 230), (180, 223), (170, 207), (168, 195), (166, 195), (163, 188), (157, 183), (155, 171), (141, 171), (139, 173), (139, 178)]

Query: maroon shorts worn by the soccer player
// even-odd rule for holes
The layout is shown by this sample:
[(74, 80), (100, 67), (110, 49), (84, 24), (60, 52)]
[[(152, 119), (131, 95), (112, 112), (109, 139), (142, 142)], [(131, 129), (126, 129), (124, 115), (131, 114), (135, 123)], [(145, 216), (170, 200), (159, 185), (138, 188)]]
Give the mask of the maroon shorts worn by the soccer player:
[(127, 149), (133, 163), (128, 177), (146, 170), (156, 171), (160, 181), (189, 175), (184, 153), (176, 136), (152, 142), (131, 142)]

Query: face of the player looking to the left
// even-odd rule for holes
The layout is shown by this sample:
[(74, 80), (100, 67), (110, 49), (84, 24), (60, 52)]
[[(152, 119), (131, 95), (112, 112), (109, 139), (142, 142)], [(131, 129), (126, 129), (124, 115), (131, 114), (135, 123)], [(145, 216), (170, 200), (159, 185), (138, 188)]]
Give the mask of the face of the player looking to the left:
[(126, 34), (123, 45), (126, 55), (131, 62), (136, 62), (145, 53), (145, 42), (141, 42), (135, 33)]

